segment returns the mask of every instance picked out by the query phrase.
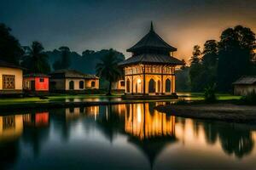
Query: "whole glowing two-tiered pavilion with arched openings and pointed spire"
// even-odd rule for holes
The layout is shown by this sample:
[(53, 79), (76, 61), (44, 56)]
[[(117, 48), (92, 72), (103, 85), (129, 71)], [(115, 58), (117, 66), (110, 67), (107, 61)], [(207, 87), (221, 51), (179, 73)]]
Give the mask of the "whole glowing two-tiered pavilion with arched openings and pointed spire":
[(175, 67), (183, 62), (173, 57), (177, 48), (166, 43), (155, 31), (150, 31), (127, 49), (132, 56), (119, 63), (125, 71), (125, 94), (175, 94)]

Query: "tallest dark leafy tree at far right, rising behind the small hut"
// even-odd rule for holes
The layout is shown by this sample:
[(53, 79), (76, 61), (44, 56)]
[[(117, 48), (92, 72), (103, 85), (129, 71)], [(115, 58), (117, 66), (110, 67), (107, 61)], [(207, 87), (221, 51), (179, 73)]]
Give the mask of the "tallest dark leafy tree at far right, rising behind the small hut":
[(236, 26), (222, 32), (218, 43), (218, 90), (229, 92), (237, 78), (253, 73), (255, 34)]

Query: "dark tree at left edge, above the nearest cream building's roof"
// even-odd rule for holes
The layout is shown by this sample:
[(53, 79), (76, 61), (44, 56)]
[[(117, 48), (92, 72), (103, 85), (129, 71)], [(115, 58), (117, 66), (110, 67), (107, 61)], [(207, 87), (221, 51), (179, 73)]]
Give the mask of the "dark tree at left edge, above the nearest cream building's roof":
[(10, 34), (11, 29), (0, 23), (0, 59), (18, 65), (24, 54), (20, 42)]

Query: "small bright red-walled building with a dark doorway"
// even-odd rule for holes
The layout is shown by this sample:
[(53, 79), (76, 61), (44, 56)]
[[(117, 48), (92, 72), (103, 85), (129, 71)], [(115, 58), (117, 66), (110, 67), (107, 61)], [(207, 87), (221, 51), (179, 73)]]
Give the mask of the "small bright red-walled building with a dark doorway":
[(44, 74), (24, 75), (23, 89), (32, 92), (49, 92), (49, 76)]

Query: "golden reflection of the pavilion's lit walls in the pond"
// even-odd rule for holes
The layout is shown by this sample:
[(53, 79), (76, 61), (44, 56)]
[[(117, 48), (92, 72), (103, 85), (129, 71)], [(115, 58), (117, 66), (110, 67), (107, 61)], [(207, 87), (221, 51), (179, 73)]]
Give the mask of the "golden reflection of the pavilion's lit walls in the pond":
[(175, 118), (158, 111), (150, 111), (148, 104), (127, 105), (125, 132), (139, 139), (174, 136)]

